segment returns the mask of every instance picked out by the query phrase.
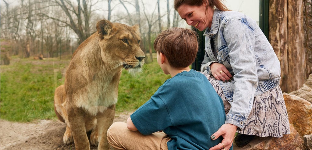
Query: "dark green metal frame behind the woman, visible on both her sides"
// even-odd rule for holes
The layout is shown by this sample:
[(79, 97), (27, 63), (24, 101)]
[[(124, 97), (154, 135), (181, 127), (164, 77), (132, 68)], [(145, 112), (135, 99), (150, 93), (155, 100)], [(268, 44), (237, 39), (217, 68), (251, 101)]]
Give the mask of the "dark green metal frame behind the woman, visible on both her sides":
[[(269, 37), (269, 0), (259, 0), (259, 27), (262, 32)], [(203, 36), (205, 31), (199, 31), (192, 27), (194, 31), (198, 33), (198, 52), (197, 58), (195, 58), (194, 63), (192, 63), (192, 69), (200, 71), (200, 66), (204, 60), (205, 55), (205, 36)]]

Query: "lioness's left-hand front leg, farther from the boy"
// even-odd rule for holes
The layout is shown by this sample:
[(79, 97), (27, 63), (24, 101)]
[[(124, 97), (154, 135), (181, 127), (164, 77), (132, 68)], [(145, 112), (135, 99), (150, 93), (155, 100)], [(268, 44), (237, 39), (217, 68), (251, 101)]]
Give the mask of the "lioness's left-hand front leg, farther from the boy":
[(76, 149), (90, 150), (89, 139), (85, 130), (85, 113), (80, 108), (75, 108), (67, 110), (67, 114)]

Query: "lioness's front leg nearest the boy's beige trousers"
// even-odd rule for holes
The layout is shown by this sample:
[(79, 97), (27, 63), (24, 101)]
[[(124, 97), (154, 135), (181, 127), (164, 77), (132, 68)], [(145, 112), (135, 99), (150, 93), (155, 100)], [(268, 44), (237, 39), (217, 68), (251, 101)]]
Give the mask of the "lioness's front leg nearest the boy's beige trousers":
[(105, 150), (110, 148), (110, 144), (107, 142), (106, 133), (110, 125), (113, 123), (115, 117), (115, 104), (108, 107), (104, 113), (100, 113), (96, 116), (97, 127), (99, 132), (99, 146), (98, 149)]

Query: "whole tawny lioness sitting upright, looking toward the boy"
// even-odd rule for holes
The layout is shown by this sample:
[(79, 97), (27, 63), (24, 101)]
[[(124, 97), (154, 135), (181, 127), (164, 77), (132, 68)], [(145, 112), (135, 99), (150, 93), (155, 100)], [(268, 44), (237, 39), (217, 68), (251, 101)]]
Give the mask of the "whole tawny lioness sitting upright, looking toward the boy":
[(54, 95), (56, 116), (67, 125), (63, 141), (74, 141), (76, 149), (90, 149), (90, 130), (91, 144), (109, 149), (106, 132), (115, 116), (121, 70), (139, 71), (145, 58), (138, 25), (100, 20), (96, 29), (76, 49), (65, 84)]

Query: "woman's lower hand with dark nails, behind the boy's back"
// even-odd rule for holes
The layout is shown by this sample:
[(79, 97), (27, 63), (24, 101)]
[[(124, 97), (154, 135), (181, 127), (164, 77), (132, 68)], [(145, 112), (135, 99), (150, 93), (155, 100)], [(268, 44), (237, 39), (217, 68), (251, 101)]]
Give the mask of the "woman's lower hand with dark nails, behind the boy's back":
[(216, 133), (213, 133), (211, 136), (212, 140), (215, 140), (215, 139), (219, 138), (220, 136), (222, 136), (223, 137), (222, 142), (219, 143), (218, 145), (210, 148), (209, 150), (218, 150), (218, 149), (222, 149), (222, 148), (229, 150), (232, 147), (235, 132), (236, 132), (237, 128), (238, 127), (236, 127), (235, 125), (230, 124), (230, 123), (223, 124), (221, 126), (221, 128)]

